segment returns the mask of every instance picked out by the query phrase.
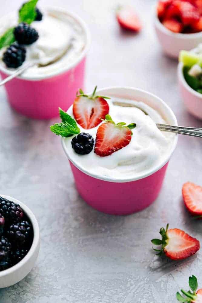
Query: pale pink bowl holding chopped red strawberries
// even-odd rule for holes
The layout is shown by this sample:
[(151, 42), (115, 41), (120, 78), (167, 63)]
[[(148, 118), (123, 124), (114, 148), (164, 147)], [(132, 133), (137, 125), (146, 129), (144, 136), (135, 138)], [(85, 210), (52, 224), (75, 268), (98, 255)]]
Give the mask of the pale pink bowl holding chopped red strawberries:
[(172, 58), (178, 58), (180, 50), (190, 51), (202, 42), (202, 32), (195, 34), (174, 33), (168, 30), (157, 16), (157, 5), (154, 12), (154, 27), (166, 55)]

